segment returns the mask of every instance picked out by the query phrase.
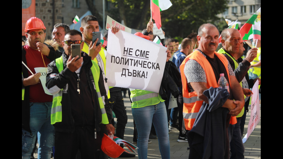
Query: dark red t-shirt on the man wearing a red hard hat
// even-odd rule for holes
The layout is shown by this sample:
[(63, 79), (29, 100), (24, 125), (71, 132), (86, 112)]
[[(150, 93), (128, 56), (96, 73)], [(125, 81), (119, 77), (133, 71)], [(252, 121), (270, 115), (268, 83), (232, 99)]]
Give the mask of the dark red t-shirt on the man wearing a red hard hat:
[[(44, 63), (47, 67), (47, 65), (50, 63), (50, 60), (42, 55), (38, 50), (34, 50), (28, 45), (24, 46), (24, 49), (26, 51), (26, 59), (27, 59), (27, 67), (33, 72), (33, 74), (36, 74), (34, 68), (37, 67), (45, 67)], [(44, 63), (43, 63), (44, 60)], [(46, 68), (47, 70), (47, 68)], [(28, 71), (29, 76), (31, 76), (31, 73)], [(42, 72), (41, 76), (46, 76), (47, 72)], [(45, 89), (45, 87), (44, 87)], [(29, 102), (37, 102), (37, 103), (43, 103), (43, 102), (52, 102), (53, 97), (51, 95), (48, 95), (44, 92), (44, 89), (42, 87), (41, 82), (36, 85), (30, 85), (29, 86)]]

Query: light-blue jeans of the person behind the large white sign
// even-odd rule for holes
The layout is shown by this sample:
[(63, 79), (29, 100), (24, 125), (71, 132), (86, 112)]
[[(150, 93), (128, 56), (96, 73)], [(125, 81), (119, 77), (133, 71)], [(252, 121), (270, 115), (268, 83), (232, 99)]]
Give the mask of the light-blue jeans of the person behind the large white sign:
[(147, 158), (151, 123), (153, 123), (158, 137), (161, 157), (163, 159), (170, 158), (169, 130), (164, 102), (142, 108), (132, 108), (132, 113), (137, 126), (139, 159)]

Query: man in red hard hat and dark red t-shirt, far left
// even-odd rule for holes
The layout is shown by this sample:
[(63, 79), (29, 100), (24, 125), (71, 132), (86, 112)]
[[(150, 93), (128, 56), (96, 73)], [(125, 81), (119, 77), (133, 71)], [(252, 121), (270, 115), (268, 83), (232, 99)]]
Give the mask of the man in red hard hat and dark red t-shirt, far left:
[(25, 25), (28, 44), (22, 46), (22, 61), (27, 66), (22, 64), (22, 158), (28, 159), (37, 135), (38, 158), (51, 158), (54, 146), (54, 127), (50, 121), (53, 97), (44, 92), (45, 81), (39, 78), (46, 76), (47, 65), (61, 53), (43, 44), (45, 29), (39, 18), (31, 17)]

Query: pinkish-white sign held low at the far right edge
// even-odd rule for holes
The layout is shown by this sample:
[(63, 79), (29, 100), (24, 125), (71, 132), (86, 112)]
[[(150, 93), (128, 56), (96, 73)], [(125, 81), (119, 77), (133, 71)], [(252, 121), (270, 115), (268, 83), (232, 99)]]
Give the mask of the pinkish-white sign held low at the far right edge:
[(243, 138), (243, 143), (247, 141), (247, 138), (250, 136), (256, 125), (259, 123), (260, 120), (260, 109), (259, 109), (259, 94), (258, 94), (258, 80), (254, 83), (254, 87), (252, 89), (254, 93), (252, 95), (251, 101), (251, 117), (248, 125), (247, 134)]

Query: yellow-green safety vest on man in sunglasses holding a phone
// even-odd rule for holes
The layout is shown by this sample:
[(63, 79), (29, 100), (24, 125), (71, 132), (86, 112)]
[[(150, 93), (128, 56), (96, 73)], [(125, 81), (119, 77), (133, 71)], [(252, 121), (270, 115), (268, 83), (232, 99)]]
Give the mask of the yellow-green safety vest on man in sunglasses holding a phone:
[[(56, 62), (56, 66), (59, 72), (61, 72), (63, 70), (63, 59), (62, 56), (57, 58), (55, 60)], [(94, 78), (94, 89), (96, 90), (97, 96), (98, 96), (98, 102), (99, 102), (99, 106), (100, 106), (100, 110), (101, 110), (101, 114), (102, 114), (102, 124), (109, 124), (108, 121), (108, 117), (105, 111), (105, 107), (103, 104), (103, 99), (101, 97), (100, 94), (100, 90), (98, 87), (98, 80), (99, 80), (99, 75), (100, 75), (100, 70), (99, 70), (99, 66), (92, 61), (92, 67), (90, 68), (92, 71), (92, 76)], [(61, 122), (62, 121), (62, 91), (63, 89), (61, 89), (59, 91), (59, 93), (53, 95), (53, 102), (52, 102), (52, 108), (51, 108), (51, 124), (55, 124), (56, 122)]]

